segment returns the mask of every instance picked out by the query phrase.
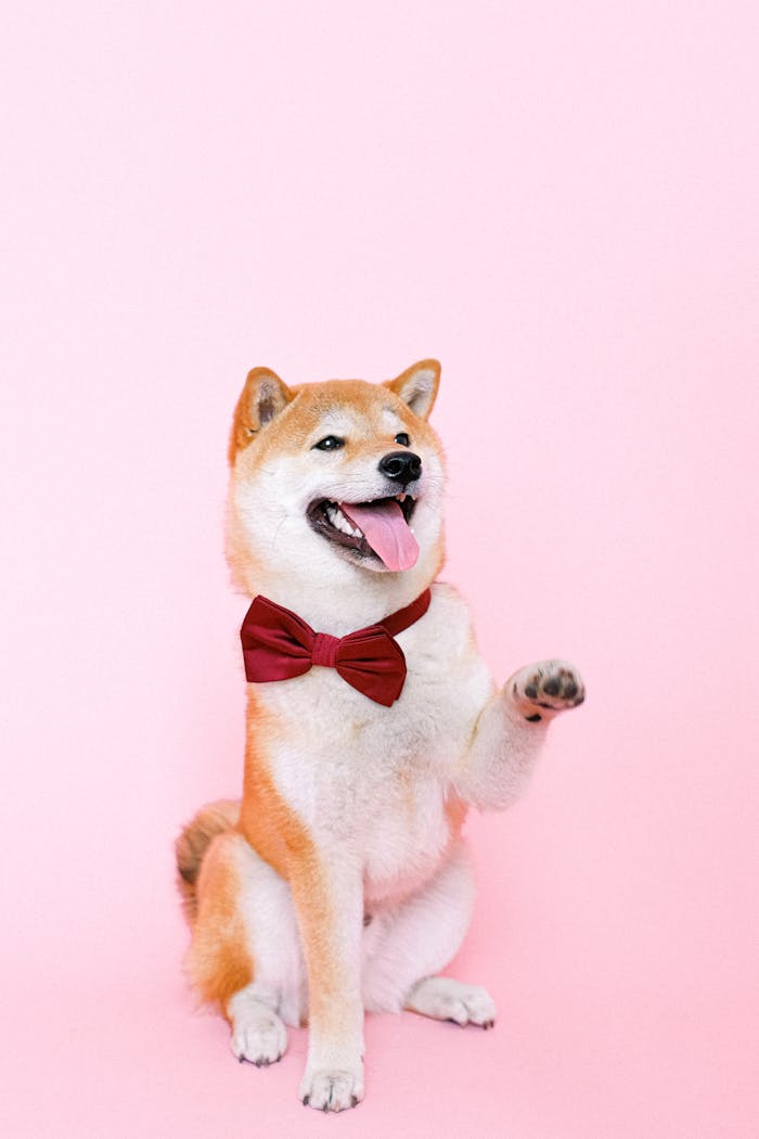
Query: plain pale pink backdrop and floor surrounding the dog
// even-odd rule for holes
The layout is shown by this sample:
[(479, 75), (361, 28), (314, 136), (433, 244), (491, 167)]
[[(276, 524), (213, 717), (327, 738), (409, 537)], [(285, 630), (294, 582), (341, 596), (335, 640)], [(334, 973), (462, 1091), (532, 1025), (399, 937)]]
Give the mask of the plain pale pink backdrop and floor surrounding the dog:
[[(756, 6), (17, 6), (0, 74), (0, 1115), (14, 1137), (753, 1139)], [(172, 842), (234, 794), (247, 369), (437, 355), (446, 576), (586, 706), (469, 834), (493, 1033), (368, 1023), (325, 1120), (196, 1015)]]

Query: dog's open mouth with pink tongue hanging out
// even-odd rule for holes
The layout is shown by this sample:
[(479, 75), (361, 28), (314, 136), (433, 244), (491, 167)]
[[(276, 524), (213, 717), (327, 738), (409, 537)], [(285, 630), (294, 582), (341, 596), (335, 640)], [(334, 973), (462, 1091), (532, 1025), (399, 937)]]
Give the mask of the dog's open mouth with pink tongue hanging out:
[(306, 515), (317, 534), (363, 558), (378, 558), (388, 570), (411, 570), (419, 546), (410, 522), (416, 500), (411, 494), (371, 502), (316, 499)]

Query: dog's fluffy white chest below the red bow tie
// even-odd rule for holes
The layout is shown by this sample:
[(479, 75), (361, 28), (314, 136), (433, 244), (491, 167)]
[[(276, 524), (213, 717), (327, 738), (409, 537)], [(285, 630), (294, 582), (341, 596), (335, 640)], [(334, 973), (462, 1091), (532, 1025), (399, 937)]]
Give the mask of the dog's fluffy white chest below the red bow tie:
[(360, 854), (374, 898), (438, 865), (455, 825), (452, 782), (492, 686), (463, 604), (438, 599), (431, 616), (398, 638), (407, 675), (391, 707), (325, 667), (266, 686), (281, 792), (324, 842)]

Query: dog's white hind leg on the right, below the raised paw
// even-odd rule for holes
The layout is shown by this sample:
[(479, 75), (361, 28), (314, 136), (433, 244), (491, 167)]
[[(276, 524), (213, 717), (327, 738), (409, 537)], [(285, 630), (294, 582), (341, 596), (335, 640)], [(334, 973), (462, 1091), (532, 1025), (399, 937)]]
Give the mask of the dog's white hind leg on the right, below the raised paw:
[(469, 854), (459, 844), (423, 890), (396, 910), (372, 918), (365, 932), (365, 1008), (387, 1013), (407, 1008), (457, 1024), (493, 1024), (495, 1005), (485, 989), (436, 976), (464, 939), (473, 899)]

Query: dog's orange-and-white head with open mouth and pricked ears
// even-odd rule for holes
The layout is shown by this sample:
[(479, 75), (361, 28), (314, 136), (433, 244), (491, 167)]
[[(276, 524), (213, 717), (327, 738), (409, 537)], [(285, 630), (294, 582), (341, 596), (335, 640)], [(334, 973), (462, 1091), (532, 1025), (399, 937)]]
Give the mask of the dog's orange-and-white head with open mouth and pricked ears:
[(444, 470), (427, 417), (438, 379), (434, 360), (387, 384), (290, 390), (269, 369), (249, 374), (230, 441), (228, 526), (246, 591), (288, 583), (291, 596), (296, 585), (352, 588), (380, 575), (388, 588), (403, 576), (421, 590), (434, 579)]

